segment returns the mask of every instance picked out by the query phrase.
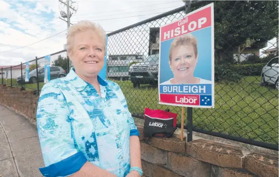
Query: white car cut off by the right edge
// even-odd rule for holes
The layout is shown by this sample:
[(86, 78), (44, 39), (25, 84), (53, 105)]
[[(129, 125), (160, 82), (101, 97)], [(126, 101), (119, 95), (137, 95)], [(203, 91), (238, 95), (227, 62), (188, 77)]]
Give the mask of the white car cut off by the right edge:
[(271, 59), (262, 69), (262, 81), (261, 85), (265, 86), (267, 84), (274, 84), (278, 89), (278, 68), (279, 68), (279, 58), (275, 57)]

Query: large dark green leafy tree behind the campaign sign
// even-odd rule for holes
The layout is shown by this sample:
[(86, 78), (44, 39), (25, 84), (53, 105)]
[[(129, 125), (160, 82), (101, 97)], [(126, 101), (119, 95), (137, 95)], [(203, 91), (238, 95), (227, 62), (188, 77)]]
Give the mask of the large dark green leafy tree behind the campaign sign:
[(261, 49), (278, 36), (278, 1), (210, 0), (192, 4), (191, 10), (211, 2), (214, 2), (215, 60), (232, 62), (234, 50)]

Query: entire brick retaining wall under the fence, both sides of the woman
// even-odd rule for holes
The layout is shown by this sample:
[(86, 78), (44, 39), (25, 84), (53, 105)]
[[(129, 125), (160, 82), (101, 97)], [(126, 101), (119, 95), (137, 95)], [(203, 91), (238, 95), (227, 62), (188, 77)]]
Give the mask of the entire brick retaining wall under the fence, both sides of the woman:
[[(36, 119), (38, 96), (0, 85), (0, 103), (30, 120)], [(242, 150), (222, 143), (197, 139), (144, 138), (138, 126), (145, 177), (278, 177), (278, 157), (243, 155)]]

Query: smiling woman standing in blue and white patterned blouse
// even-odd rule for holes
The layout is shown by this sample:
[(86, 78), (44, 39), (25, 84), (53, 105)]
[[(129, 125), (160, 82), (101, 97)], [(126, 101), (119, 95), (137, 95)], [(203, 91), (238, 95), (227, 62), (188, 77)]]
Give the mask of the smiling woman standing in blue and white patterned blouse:
[(98, 76), (106, 35), (90, 21), (73, 25), (69, 74), (42, 88), (38, 134), (45, 177), (140, 177), (139, 132), (119, 85)]

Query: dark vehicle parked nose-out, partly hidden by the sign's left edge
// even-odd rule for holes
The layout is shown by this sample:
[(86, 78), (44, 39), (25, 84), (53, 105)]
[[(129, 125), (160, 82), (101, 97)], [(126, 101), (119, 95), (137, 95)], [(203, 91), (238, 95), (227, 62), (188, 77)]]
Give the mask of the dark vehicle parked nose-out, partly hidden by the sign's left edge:
[(158, 83), (159, 54), (148, 56), (140, 63), (133, 64), (129, 70), (129, 76), (133, 87), (140, 84)]

